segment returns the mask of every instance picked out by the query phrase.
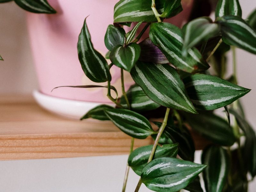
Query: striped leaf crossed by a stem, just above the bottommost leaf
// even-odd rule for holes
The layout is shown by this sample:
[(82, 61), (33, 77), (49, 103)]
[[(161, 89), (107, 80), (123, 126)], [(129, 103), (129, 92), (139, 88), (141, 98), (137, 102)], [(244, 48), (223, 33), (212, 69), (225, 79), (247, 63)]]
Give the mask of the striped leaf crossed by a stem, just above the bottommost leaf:
[[(153, 145), (147, 145), (140, 148), (135, 149), (129, 155), (128, 165), (132, 168), (132, 170), (140, 175), (142, 169), (148, 163), (148, 158), (150, 156)], [(156, 152), (154, 155), (154, 159), (160, 157), (176, 157), (178, 152), (178, 143), (175, 144), (166, 144), (163, 146), (157, 146)]]

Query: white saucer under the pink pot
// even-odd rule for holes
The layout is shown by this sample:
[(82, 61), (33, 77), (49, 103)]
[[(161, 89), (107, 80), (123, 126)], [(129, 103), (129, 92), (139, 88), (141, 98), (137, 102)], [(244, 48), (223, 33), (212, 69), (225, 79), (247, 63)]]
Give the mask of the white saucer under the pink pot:
[[(65, 116), (73, 119), (80, 119), (90, 109), (104, 104), (88, 101), (76, 101), (69, 99), (62, 99), (45, 95), (37, 90), (33, 91), (33, 96), (36, 102), (44, 109), (51, 111), (60, 116)], [(108, 104), (114, 106), (113, 104)]]

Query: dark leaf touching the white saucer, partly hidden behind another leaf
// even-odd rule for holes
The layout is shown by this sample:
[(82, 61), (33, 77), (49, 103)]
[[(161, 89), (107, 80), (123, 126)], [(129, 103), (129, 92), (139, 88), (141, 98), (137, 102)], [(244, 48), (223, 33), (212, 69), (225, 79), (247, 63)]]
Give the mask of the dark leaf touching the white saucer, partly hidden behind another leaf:
[(106, 116), (105, 114), (105, 109), (113, 109), (113, 107), (109, 105), (99, 105), (88, 111), (83, 117), (80, 118), (80, 120), (87, 119), (90, 117), (101, 121), (109, 120), (108, 116)]

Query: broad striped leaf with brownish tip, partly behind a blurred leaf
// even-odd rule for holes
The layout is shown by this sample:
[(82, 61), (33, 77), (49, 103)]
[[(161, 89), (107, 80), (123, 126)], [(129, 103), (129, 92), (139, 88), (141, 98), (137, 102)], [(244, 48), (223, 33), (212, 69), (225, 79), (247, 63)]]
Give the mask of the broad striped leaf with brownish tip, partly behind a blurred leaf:
[(175, 67), (189, 73), (209, 68), (196, 48), (188, 49), (187, 57), (182, 56), (183, 33), (175, 25), (164, 22), (152, 23), (149, 38)]

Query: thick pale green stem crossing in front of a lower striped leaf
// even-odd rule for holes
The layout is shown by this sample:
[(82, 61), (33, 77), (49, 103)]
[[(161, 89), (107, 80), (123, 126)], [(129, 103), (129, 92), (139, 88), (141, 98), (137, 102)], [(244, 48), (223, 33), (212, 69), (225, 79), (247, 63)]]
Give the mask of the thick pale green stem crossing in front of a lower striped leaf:
[[(152, 150), (151, 150), (150, 156), (149, 156), (149, 158), (148, 158), (148, 163), (149, 163), (150, 161), (152, 161), (152, 159), (153, 159), (153, 157), (154, 157), (154, 154), (155, 154), (155, 151), (156, 151), (156, 146), (157, 146), (157, 144), (158, 144), (158, 141), (159, 141), (159, 139), (160, 139), (162, 133), (164, 132), (164, 128), (166, 127), (169, 112), (170, 112), (170, 109), (169, 109), (169, 108), (166, 108), (166, 112), (165, 112), (165, 116), (164, 116), (164, 121), (163, 121), (163, 123), (161, 124), (161, 127), (159, 128), (159, 131), (158, 131), (158, 133), (157, 133), (155, 143), (154, 143), (154, 145), (153, 145), (153, 148), (152, 148)], [(141, 182), (141, 178), (140, 178), (140, 180), (139, 180), (139, 182), (138, 182), (138, 184), (137, 184), (137, 187), (136, 187), (136, 189), (135, 189), (134, 192), (138, 192), (138, 191), (139, 191), (141, 184), (142, 184), (142, 182)]]

